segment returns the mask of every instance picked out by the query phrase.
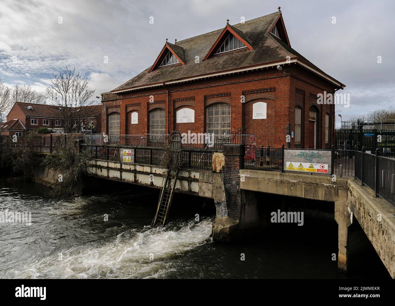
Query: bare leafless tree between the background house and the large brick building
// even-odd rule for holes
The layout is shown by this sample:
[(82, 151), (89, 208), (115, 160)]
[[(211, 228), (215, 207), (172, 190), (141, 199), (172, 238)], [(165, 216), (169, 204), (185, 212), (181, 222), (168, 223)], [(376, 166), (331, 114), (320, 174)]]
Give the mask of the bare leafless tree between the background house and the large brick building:
[(65, 66), (58, 75), (53, 74), (46, 94), (49, 103), (56, 106), (54, 115), (63, 119), (64, 133), (79, 133), (81, 126), (87, 124), (87, 118), (91, 116), (91, 109), (87, 106), (95, 103), (90, 99), (94, 92), (88, 79), (75, 68), (71, 70)]

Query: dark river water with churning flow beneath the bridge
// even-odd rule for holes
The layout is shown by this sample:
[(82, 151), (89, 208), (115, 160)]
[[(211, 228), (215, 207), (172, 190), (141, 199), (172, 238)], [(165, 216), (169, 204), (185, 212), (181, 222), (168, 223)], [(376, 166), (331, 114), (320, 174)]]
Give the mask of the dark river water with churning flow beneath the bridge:
[[(175, 197), (169, 224), (157, 229), (147, 226), (157, 191), (126, 188), (67, 200), (49, 192), (0, 179), (0, 211), (32, 213), (30, 226), (0, 223), (0, 278), (346, 278), (331, 260), (334, 225), (217, 244), (210, 237), (214, 215), (201, 209), (202, 199)], [(369, 276), (387, 277), (377, 265)]]

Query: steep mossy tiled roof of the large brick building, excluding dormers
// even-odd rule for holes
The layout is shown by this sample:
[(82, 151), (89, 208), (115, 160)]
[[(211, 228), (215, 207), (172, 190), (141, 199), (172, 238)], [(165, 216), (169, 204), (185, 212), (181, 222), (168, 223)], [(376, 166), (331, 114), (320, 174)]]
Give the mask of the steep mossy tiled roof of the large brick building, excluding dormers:
[[(181, 51), (183, 51), (183, 61), (185, 65), (175, 64), (157, 67), (151, 72), (152, 66), (150, 66), (129, 81), (112, 90), (112, 92), (165, 81), (207, 75), (218, 71), (228, 71), (231, 69), (286, 60), (287, 56), (290, 56), (290, 58), (298, 57), (320, 73), (324, 73), (324, 71), (301, 56), (301, 54), (292, 49), (287, 43), (284, 43), (281, 39), (269, 33), (269, 30), (277, 21), (280, 14), (281, 12), (277, 11), (269, 15), (245, 21), (245, 23), (234, 24), (232, 26), (229, 25), (241, 36), (241, 38), (250, 43), (254, 50), (240, 49), (218, 56), (211, 56), (203, 61), (203, 58), (205, 58), (224, 28), (177, 41), (177, 45), (167, 43), (177, 56), (179, 56), (179, 54), (182, 55)], [(178, 49), (176, 49), (175, 46)], [(199, 64), (195, 63), (195, 56), (199, 56)]]

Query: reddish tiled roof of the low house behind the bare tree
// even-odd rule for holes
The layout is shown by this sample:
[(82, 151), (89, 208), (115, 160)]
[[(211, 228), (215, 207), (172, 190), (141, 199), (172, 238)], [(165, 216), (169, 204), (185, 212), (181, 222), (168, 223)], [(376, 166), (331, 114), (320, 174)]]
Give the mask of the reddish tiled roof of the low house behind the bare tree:
[[(63, 118), (62, 113), (59, 111), (59, 107), (56, 105), (49, 104), (37, 104), (37, 103), (24, 103), (16, 102), (15, 105), (21, 109), (25, 116), (30, 117), (43, 117), (43, 118)], [(15, 107), (15, 105), (13, 107)], [(27, 107), (31, 106), (32, 109)], [(83, 106), (89, 110), (90, 117), (96, 117), (102, 112), (102, 105), (88, 105)], [(73, 109), (76, 109), (73, 107)], [(92, 115), (91, 115), (92, 114)]]

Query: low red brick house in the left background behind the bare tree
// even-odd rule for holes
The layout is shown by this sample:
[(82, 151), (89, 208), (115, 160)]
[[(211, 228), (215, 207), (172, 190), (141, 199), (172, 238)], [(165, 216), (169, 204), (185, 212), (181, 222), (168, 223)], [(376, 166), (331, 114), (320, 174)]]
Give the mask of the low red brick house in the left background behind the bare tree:
[[(100, 133), (101, 132), (101, 105), (90, 105), (85, 106), (88, 108), (89, 122), (84, 122), (81, 125), (81, 133)], [(13, 105), (7, 115), (8, 122), (15, 121), (13, 126), (19, 128), (23, 127), (23, 130), (17, 130), (17, 132), (36, 130), (41, 127), (48, 128), (54, 133), (63, 133), (64, 119), (60, 113), (58, 107), (55, 105), (36, 104), (36, 103), (22, 103), (17, 102)], [(19, 120), (19, 121), (17, 121)], [(8, 123), (6, 122), (6, 123)], [(17, 123), (19, 122), (19, 123)], [(2, 126), (6, 125), (2, 124)], [(78, 123), (75, 122), (77, 126)], [(77, 132), (76, 128), (75, 132)], [(14, 135), (14, 130), (10, 127), (2, 128), (2, 135)], [(16, 131), (16, 130), (15, 130)]]

